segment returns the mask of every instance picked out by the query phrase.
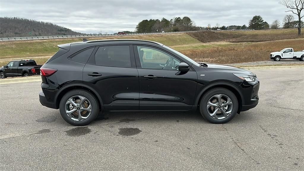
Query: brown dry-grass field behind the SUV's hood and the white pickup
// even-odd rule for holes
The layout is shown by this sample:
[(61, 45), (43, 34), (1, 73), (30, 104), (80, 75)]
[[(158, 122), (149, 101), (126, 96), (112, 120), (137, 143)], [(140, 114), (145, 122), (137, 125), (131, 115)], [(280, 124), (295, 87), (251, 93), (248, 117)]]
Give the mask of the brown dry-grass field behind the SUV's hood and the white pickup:
[[(200, 47), (197, 48), (196, 46)], [(295, 51), (304, 49), (304, 39), (278, 40), (258, 43), (228, 43), (195, 45), (188, 49), (181, 46), (173, 47), (195, 61), (219, 64), (231, 64), (250, 61), (269, 60), (271, 52), (293, 47)]]

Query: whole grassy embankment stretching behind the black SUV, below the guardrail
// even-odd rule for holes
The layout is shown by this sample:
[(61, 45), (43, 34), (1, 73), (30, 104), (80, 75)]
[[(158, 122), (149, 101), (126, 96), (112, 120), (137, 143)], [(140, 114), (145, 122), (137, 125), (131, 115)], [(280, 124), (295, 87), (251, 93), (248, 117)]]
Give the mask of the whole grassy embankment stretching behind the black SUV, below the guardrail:
[[(304, 49), (304, 35), (298, 37), (296, 29), (88, 38), (88, 40), (102, 39), (142, 39), (157, 41), (180, 51), (195, 61), (220, 64), (269, 60), (270, 52), (279, 51), (285, 47), (293, 47), (296, 51)], [(33, 58), (38, 64), (43, 64), (50, 58), (50, 55), (53, 55), (58, 50), (58, 44), (77, 41), (82, 41), (82, 39), (0, 42), (0, 66), (7, 64), (13, 58)]]

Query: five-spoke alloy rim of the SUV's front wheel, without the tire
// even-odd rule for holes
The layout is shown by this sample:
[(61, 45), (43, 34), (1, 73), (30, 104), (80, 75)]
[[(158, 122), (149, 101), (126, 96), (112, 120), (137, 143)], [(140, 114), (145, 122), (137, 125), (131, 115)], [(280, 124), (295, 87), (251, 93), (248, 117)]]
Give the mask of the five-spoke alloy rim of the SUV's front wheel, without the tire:
[(208, 114), (215, 119), (224, 119), (228, 117), (233, 109), (231, 99), (224, 94), (217, 94), (208, 100)]

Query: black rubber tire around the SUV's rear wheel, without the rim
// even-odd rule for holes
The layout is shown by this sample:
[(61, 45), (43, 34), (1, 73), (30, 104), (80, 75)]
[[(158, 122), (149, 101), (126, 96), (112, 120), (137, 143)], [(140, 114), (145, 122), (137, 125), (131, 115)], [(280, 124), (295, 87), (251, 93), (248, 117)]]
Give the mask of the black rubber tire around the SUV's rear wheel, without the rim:
[[(66, 103), (67, 103), (67, 100), (73, 96), (83, 96), (86, 99), (88, 99), (88, 101), (91, 103), (91, 106), (92, 106), (91, 114), (88, 116), (87, 119), (81, 120), (81, 121), (75, 121), (75, 120), (71, 119), (70, 117), (68, 117), (68, 115), (66, 113)], [(91, 123), (93, 120), (95, 120), (95, 118), (97, 117), (97, 115), (99, 113), (99, 105), (98, 105), (98, 100), (95, 98), (95, 96), (92, 93), (85, 91), (85, 90), (76, 89), (76, 90), (67, 92), (61, 98), (59, 110), (60, 110), (60, 114), (61, 114), (62, 118), (65, 121), (67, 121), (67, 123), (69, 123), (71, 125), (75, 125), (75, 126), (83, 126), (83, 125), (87, 125), (87, 124)]]

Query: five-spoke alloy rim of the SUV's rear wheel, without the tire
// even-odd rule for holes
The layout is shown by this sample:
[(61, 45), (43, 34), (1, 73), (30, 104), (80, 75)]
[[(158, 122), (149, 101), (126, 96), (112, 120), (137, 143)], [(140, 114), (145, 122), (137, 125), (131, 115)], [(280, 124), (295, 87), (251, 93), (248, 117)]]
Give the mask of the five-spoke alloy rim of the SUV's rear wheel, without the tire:
[(87, 119), (91, 112), (92, 106), (90, 101), (83, 96), (73, 96), (65, 103), (66, 114), (75, 121)]

